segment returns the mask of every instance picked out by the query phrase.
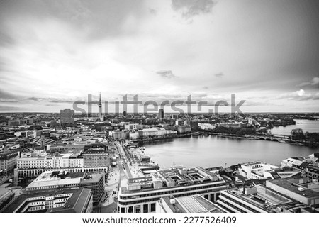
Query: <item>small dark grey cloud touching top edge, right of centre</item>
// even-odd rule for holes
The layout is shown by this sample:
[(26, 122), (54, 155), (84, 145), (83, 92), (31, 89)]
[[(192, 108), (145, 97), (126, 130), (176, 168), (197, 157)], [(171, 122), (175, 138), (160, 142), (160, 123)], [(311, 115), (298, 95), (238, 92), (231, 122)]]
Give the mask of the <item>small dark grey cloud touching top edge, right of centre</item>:
[(184, 18), (191, 18), (201, 13), (211, 13), (215, 4), (212, 0), (172, 0), (172, 9), (181, 12)]

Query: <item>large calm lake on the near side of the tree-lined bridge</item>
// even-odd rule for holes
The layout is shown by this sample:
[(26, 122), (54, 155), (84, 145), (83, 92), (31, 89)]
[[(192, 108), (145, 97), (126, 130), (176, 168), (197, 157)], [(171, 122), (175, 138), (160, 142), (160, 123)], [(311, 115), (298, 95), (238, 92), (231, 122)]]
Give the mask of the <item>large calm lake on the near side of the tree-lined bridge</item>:
[[(260, 160), (279, 165), (287, 157), (319, 153), (319, 148), (278, 143), (266, 140), (222, 138), (216, 135), (191, 136), (144, 143), (145, 154), (150, 155), (159, 167), (229, 166)], [(227, 164), (225, 164), (227, 163)]]

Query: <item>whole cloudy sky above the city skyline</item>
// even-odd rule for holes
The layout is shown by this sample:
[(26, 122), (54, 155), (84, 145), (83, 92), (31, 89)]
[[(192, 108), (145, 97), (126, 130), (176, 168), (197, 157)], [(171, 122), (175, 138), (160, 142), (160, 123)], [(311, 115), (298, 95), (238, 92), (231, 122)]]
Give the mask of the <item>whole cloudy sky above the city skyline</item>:
[(110, 111), (235, 94), (244, 112), (318, 112), (318, 31), (317, 0), (1, 0), (0, 112), (99, 92)]

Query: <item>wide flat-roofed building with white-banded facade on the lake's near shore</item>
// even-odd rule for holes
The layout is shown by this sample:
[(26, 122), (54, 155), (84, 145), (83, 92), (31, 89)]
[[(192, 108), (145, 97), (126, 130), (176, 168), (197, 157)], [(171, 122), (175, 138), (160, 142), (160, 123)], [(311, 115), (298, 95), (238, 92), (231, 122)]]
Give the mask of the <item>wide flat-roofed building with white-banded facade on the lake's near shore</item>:
[(201, 195), (209, 201), (216, 201), (226, 187), (223, 178), (203, 167), (155, 170), (147, 177), (128, 179), (128, 186), (119, 191), (118, 212), (155, 212), (156, 203), (163, 196)]

